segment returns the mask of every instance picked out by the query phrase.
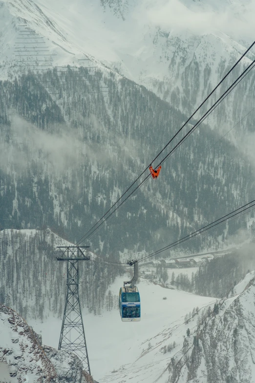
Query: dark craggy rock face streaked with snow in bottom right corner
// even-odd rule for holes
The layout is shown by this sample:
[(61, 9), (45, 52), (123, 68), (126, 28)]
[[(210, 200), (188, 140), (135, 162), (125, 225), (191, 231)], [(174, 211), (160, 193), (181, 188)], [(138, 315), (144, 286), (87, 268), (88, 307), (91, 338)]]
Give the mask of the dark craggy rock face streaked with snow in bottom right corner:
[(172, 360), (170, 383), (255, 382), (255, 278), (204, 318)]

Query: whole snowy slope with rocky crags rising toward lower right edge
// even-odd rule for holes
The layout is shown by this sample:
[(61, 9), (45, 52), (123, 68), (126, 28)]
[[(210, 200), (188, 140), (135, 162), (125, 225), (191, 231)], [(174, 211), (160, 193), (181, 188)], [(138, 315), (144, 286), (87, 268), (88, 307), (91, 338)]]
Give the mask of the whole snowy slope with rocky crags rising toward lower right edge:
[(254, 272), (235, 289), (235, 296), (151, 332), (140, 355), (101, 382), (254, 382)]

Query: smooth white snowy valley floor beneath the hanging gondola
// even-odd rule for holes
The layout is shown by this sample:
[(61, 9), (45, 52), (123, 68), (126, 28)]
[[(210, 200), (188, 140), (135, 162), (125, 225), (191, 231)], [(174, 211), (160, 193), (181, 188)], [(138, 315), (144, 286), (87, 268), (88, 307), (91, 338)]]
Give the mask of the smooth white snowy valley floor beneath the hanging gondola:
[[(124, 279), (125, 277), (118, 278), (109, 289), (118, 294)], [(176, 328), (184, 323), (184, 316), (194, 307), (201, 308), (214, 304), (216, 301), (215, 298), (165, 289), (143, 279), (138, 284), (138, 289), (142, 312), (140, 322), (122, 322), (117, 309), (104, 310), (102, 315), (83, 312), (91, 374), (100, 383), (121, 382), (117, 370), (120, 369), (120, 366), (125, 366), (125, 369), (129, 366), (132, 369), (132, 363), (141, 356), (143, 351), (142, 364), (139, 364), (142, 367), (144, 363), (149, 363), (151, 355), (149, 356), (146, 351), (149, 346), (150, 351), (153, 349), (156, 352), (157, 360), (155, 361), (159, 363), (157, 368), (153, 369), (153, 376), (150, 375), (150, 372), (149, 375), (145, 374), (144, 371), (140, 377), (135, 377), (136, 374), (134, 374), (133, 379), (128, 382), (154, 382), (166, 368), (172, 355), (163, 354), (160, 349), (173, 341), (182, 345), (186, 327), (191, 325), (184, 325), (185, 328), (181, 326), (182, 330), (176, 332)], [(167, 297), (167, 299), (163, 299), (163, 297)], [(28, 320), (28, 324), (42, 335), (43, 344), (58, 347), (61, 319), (49, 316), (43, 323)], [(173, 329), (175, 329), (174, 337), (170, 336)], [(121, 368), (119, 371), (122, 370)]]

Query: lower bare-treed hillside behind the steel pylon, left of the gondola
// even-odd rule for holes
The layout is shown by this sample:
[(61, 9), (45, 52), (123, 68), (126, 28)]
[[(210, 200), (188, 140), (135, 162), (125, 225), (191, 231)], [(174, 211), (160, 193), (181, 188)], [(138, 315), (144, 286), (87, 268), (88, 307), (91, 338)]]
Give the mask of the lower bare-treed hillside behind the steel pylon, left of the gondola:
[[(51, 230), (2, 230), (0, 232), (0, 303), (25, 318), (45, 320), (49, 313), (62, 317), (66, 296), (66, 263), (58, 262), (56, 246), (70, 246)], [(121, 267), (80, 262), (82, 308), (100, 314), (107, 305), (107, 287)], [(108, 306), (107, 306), (108, 309)]]

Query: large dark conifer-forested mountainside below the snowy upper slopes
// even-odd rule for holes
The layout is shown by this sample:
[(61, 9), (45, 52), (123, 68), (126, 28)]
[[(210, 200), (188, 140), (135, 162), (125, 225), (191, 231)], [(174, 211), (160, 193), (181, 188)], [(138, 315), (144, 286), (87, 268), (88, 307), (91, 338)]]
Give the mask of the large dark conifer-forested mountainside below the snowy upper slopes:
[[(53, 227), (75, 242), (186, 120), (113, 72), (76, 70), (0, 82), (1, 228)], [(92, 238), (93, 249), (116, 258), (125, 248), (150, 251), (252, 199), (252, 167), (216, 141), (208, 126), (196, 130)], [(245, 218), (189, 248), (218, 246), (240, 225)]]

